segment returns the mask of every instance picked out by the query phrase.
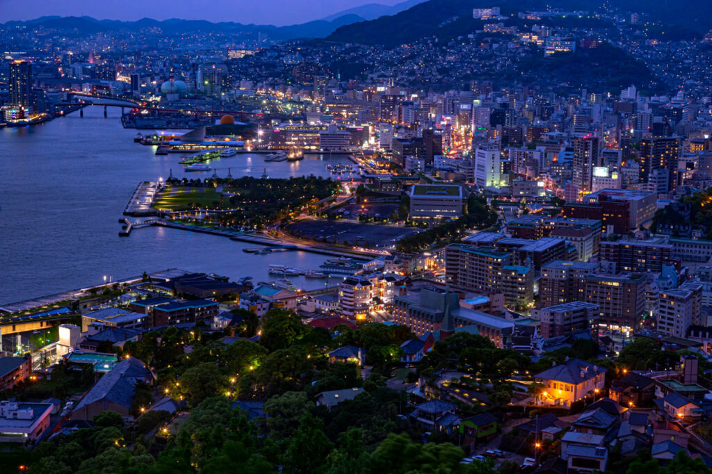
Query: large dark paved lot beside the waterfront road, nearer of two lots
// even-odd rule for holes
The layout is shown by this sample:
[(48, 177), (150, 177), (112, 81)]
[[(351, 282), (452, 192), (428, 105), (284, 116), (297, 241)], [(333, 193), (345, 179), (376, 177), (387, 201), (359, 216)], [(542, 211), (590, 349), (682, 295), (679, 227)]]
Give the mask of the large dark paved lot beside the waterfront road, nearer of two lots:
[(393, 246), (400, 238), (419, 232), (419, 229), (409, 227), (325, 219), (304, 219), (290, 224), (288, 229), (301, 238), (325, 238), (328, 243), (337, 241), (354, 245), (367, 242), (370, 246), (379, 247)]

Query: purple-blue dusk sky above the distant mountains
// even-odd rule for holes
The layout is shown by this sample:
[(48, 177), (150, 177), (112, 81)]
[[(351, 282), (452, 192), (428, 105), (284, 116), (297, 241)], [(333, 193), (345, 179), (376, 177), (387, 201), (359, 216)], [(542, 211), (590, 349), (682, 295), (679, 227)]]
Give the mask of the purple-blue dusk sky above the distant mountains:
[(96, 19), (204, 19), (290, 25), (363, 4), (401, 0), (0, 0), (0, 22), (38, 16), (93, 16)]

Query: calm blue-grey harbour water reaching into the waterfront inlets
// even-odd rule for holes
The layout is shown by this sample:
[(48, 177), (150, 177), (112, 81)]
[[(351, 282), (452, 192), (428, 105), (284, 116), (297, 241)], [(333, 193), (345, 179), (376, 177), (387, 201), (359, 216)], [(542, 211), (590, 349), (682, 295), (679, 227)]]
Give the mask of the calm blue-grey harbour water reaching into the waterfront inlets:
[[(153, 147), (133, 142), (120, 109), (88, 107), (43, 125), (0, 129), (0, 305), (98, 284), (164, 268), (219, 273), (231, 278), (268, 279), (271, 263), (317, 268), (325, 256), (305, 252), (256, 256), (255, 244), (167, 228), (142, 228), (119, 237), (122, 210), (139, 181), (183, 177), (180, 154), (156, 156)], [(327, 163), (344, 157), (307, 157), (300, 162), (265, 163), (238, 154), (211, 162), (219, 176), (308, 174), (328, 176)], [(209, 177), (187, 173), (189, 178)], [(290, 278), (303, 288), (324, 280)]]

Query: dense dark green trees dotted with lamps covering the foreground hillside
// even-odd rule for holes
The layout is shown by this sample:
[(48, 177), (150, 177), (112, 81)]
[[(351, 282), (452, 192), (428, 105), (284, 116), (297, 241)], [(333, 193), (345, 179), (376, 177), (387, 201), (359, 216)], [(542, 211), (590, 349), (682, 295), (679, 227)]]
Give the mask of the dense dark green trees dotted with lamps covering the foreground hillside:
[[(598, 344), (582, 339), (532, 362), (513, 350), (498, 349), (487, 337), (457, 332), (435, 342), (413, 372), (399, 362), (401, 344), (414, 337), (407, 327), (370, 324), (350, 330), (342, 325), (332, 336), (306, 325), (289, 310), (271, 310), (261, 318), (236, 312), (244, 317), (236, 331), (258, 332), (258, 342), (238, 339), (225, 344), (221, 333), (169, 327), (125, 344), (122, 357), (138, 357), (158, 375), (153, 389), (137, 386), (131, 408), (135, 422), (125, 424), (122, 416), (104, 412), (95, 417), (91, 429), (40, 443), (28, 456), (31, 472), (490, 474), (492, 463), (461, 463), (465, 453), (456, 446), (456, 436), (425, 435), (424, 428), (407, 416), (407, 393), (389, 388), (394, 374), (406, 371), (404, 379), (419, 378), (422, 386), (443, 394), (447, 389), (478, 393), (477, 403), (457, 401), (461, 415), (493, 411), (501, 418), (514, 395), (513, 377), (526, 378), (525, 374), (567, 357), (603, 365), (614, 378), (624, 374), (625, 367), (655, 367), (680, 354), (661, 352), (654, 340), (638, 338), (624, 347), (614, 363), (598, 359)], [(368, 376), (362, 377), (357, 364), (328, 359), (330, 350), (345, 345), (365, 351), (372, 366)], [(701, 364), (701, 371), (706, 368)], [(438, 388), (434, 376), (442, 369), (461, 376)], [(335, 406), (315, 403), (321, 392), (340, 389), (360, 391)], [(529, 391), (538, 389), (533, 384)], [(183, 401), (189, 416), (175, 418), (165, 411), (144, 410), (164, 394)], [(263, 401), (266, 416), (248, 414), (240, 401)], [(503, 438), (503, 446), (506, 443), (521, 446), (523, 440), (512, 433)], [(560, 441), (546, 441), (542, 459), (558, 455), (559, 450)], [(703, 472), (697, 460), (684, 456), (661, 468), (650, 460), (649, 450), (637, 458), (622, 458), (612, 451), (610, 466), (617, 474), (642, 472), (633, 468), (659, 474)], [(517, 469), (507, 461), (498, 467), (499, 472)]]

